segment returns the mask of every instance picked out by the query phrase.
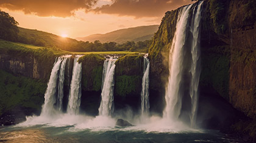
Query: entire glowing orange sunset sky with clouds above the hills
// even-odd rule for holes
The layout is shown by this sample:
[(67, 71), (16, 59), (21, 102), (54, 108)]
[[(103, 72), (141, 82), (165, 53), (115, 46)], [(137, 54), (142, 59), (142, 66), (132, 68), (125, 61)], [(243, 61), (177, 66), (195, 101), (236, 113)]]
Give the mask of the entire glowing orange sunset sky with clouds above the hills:
[(168, 10), (190, 0), (1, 0), (20, 27), (70, 38), (160, 24)]

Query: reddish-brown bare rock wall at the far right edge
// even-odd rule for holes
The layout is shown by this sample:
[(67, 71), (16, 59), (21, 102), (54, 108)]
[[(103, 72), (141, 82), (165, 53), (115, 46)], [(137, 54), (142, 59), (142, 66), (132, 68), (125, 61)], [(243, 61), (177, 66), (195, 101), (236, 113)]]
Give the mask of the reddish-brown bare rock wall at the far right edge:
[(230, 1), (229, 102), (256, 119), (255, 1)]

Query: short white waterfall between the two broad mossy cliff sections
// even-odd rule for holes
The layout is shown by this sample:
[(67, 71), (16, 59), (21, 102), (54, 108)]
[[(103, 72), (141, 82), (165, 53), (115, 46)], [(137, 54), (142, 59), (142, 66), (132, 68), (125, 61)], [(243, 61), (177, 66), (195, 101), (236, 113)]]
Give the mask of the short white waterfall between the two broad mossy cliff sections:
[(105, 59), (102, 71), (102, 92), (101, 105), (99, 106), (100, 116), (111, 116), (113, 113), (113, 90), (114, 90), (114, 75), (115, 61), (117, 59), (110, 57)]

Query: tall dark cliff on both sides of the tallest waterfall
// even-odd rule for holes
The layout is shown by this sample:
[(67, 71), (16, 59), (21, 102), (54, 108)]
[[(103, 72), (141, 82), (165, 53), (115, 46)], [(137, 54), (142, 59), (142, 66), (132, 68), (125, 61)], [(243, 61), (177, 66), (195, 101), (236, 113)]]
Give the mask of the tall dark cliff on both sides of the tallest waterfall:
[[(203, 127), (217, 127), (229, 119), (236, 119), (239, 113), (231, 106), (228, 107), (227, 102), (255, 118), (255, 1), (205, 0), (203, 7), (202, 71), (197, 122)], [(165, 91), (163, 87), (168, 80), (169, 47), (178, 10), (166, 12), (149, 48), (150, 96), (153, 93), (160, 98)], [(212, 104), (213, 101), (220, 103), (221, 109)], [(204, 108), (211, 110), (205, 111)], [(210, 125), (211, 122), (215, 125)]]

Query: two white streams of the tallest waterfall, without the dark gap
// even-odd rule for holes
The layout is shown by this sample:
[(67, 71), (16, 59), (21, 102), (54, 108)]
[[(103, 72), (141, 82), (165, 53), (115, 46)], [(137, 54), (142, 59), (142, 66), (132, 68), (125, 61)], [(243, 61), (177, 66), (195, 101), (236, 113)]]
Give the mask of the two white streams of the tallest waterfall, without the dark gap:
[[(197, 108), (197, 88), (199, 82), (199, 26), (201, 22), (202, 3), (191, 4), (180, 8), (177, 18), (176, 32), (172, 40), (169, 53), (169, 78), (166, 87), (166, 108), (164, 118), (177, 121), (182, 111), (182, 92), (180, 86), (183, 78), (185, 48), (191, 48), (191, 65), (189, 69), (190, 78), (190, 97), (191, 97), (191, 113), (190, 122), (194, 124)], [(192, 13), (191, 13), (192, 11)], [(192, 18), (191, 18), (192, 17)], [(190, 21), (191, 20), (191, 21)], [(191, 23), (190, 23), (191, 22)], [(192, 33), (192, 39), (187, 39), (188, 34)], [(186, 47), (187, 42), (192, 41), (190, 47)]]

